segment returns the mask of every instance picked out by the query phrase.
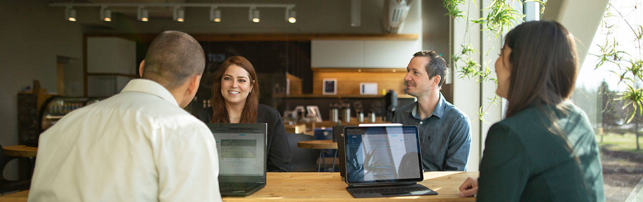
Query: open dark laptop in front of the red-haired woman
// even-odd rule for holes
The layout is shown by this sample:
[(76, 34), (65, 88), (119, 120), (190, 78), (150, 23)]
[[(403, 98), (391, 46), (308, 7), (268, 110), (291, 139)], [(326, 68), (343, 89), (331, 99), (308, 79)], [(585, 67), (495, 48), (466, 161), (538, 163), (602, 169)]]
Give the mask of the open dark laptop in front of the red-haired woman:
[(217, 142), (221, 196), (248, 196), (266, 187), (267, 124), (207, 125)]

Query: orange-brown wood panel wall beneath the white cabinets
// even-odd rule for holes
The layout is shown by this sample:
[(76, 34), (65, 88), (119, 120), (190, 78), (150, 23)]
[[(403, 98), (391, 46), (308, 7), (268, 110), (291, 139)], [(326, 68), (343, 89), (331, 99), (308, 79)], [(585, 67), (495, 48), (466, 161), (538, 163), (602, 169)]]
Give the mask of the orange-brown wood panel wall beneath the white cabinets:
[(312, 94), (321, 95), (323, 80), (337, 79), (338, 95), (359, 95), (359, 83), (377, 83), (377, 93), (382, 89), (395, 90), (398, 95), (404, 94), (404, 76), (406, 69), (390, 68), (312, 68)]

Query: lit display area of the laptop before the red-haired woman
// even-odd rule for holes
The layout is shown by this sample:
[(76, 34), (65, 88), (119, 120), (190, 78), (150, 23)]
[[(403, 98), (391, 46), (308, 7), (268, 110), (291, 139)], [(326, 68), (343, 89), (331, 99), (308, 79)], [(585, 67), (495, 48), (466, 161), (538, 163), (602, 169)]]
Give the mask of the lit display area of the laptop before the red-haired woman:
[(219, 174), (263, 176), (263, 133), (213, 133), (219, 153)]

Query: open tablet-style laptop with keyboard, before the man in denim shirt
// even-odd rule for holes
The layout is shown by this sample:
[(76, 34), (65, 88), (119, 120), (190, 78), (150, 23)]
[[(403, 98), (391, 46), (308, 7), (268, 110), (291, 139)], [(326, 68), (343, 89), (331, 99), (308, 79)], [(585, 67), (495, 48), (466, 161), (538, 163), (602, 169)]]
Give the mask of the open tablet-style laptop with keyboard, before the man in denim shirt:
[(344, 128), (346, 190), (354, 198), (435, 195), (424, 180), (417, 126)]

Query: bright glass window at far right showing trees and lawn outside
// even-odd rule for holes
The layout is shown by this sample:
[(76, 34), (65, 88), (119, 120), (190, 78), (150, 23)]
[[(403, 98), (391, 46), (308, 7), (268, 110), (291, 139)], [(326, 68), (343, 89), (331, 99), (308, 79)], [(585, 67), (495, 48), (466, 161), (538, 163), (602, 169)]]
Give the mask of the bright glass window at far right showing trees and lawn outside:
[(643, 115), (632, 117), (631, 102), (619, 99), (643, 88), (640, 72), (632, 74), (642, 59), (642, 2), (610, 1), (572, 96), (594, 126), (607, 201), (643, 200)]

